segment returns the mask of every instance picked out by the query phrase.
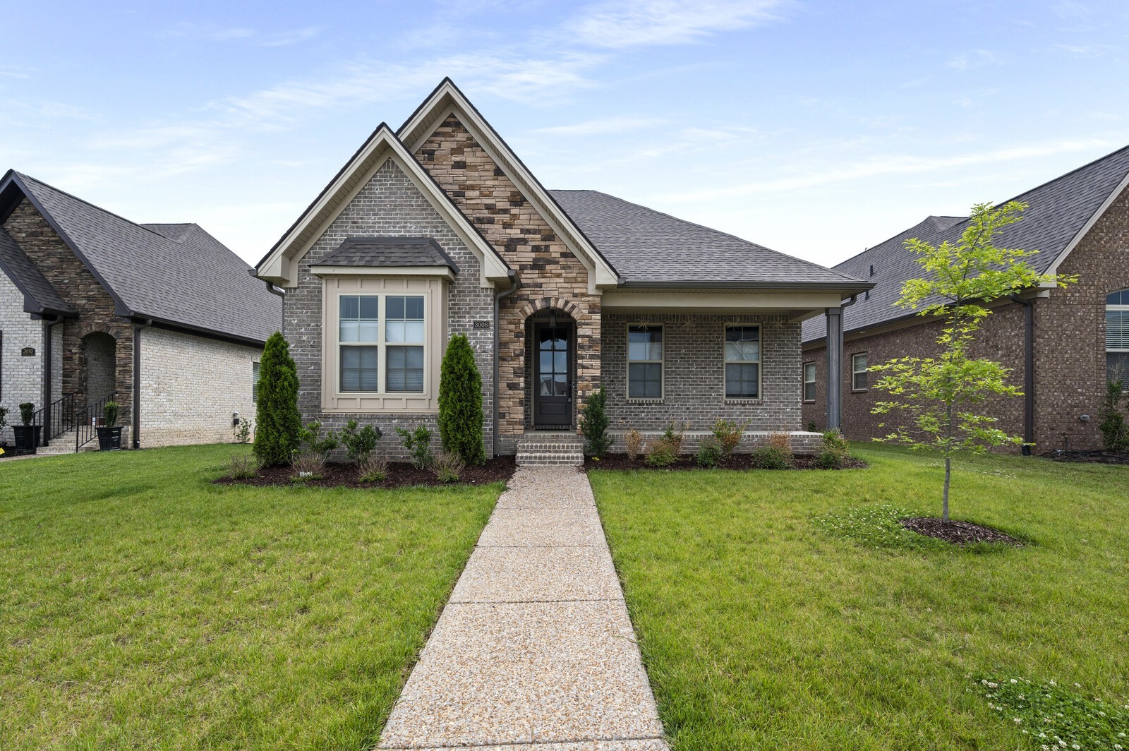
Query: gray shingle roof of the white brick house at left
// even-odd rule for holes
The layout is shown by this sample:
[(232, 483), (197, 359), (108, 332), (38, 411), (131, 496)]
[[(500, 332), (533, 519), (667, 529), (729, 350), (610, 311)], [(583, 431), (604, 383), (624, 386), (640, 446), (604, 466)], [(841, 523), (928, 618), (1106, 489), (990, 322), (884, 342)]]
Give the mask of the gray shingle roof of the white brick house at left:
[(106, 289), (116, 315), (254, 343), (279, 329), (279, 297), (198, 225), (175, 225), (180, 230), (174, 239), (9, 171), (0, 182), (0, 197), (11, 204), (19, 199), (16, 191)]

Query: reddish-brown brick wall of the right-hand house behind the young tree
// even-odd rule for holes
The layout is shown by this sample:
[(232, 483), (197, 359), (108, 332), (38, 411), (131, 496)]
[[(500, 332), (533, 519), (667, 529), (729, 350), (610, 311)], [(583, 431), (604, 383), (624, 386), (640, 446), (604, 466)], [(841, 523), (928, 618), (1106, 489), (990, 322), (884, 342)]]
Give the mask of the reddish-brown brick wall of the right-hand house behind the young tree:
[[(1097, 448), (1101, 404), (1105, 394), (1105, 296), (1129, 287), (1129, 191), (1123, 192), (1082, 238), (1059, 271), (1079, 281), (1034, 302), (1034, 453), (1069, 445)], [(865, 338), (847, 337), (843, 343), (843, 430), (850, 438), (879, 435), (870, 414), (878, 392), (852, 393), (850, 356), (866, 351), (877, 364), (894, 357), (925, 357), (936, 352), (939, 324), (922, 323)], [(1006, 304), (981, 326), (974, 352), (1013, 369), (1012, 381), (1023, 384), (1023, 306)], [(804, 351), (816, 363), (816, 401), (804, 404), (804, 423), (826, 423), (826, 365), (821, 347)], [(1023, 398), (1000, 400), (988, 408), (999, 427), (1023, 434)], [(1088, 414), (1089, 420), (1080, 417)]]

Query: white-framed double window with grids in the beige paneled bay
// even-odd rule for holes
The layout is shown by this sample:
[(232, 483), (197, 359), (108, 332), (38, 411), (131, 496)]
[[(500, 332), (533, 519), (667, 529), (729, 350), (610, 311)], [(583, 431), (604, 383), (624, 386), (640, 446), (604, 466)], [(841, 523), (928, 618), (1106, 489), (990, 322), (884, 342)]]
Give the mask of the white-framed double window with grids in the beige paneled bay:
[(423, 391), (422, 296), (342, 295), (338, 325), (342, 392)]

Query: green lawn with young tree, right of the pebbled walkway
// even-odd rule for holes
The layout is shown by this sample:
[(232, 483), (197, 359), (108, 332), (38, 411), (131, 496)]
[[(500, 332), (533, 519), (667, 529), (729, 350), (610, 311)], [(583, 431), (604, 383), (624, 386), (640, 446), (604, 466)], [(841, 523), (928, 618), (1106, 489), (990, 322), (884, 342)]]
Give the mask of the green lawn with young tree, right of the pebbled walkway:
[(1129, 704), (1129, 469), (961, 461), (954, 518), (1026, 547), (905, 549), (819, 519), (937, 515), (939, 462), (856, 454), (870, 469), (589, 473), (676, 751), (1038, 749), (973, 675)]

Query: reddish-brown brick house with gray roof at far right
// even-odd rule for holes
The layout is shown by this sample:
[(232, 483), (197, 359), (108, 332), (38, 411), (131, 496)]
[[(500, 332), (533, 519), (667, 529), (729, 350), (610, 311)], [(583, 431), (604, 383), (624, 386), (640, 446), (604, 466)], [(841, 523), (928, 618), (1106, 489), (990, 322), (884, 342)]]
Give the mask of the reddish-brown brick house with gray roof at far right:
[[(1022, 399), (996, 402), (991, 413), (1001, 428), (1034, 443), (1038, 453), (1100, 447), (1106, 381), (1129, 377), (1127, 183), (1129, 147), (1015, 197), (1030, 208), (998, 237), (1003, 247), (1039, 251), (1030, 263), (1041, 272), (1078, 276), (1066, 289), (1029, 289), (997, 300), (977, 342), (975, 351), (1010, 368), (1013, 383), (1024, 392)], [(842, 307), (841, 355), (833, 360), (848, 376), (838, 403), (828, 398), (835, 392), (826, 384), (823, 316), (804, 323), (805, 423), (822, 426), (841, 409), (848, 437), (886, 433), (870, 413), (881, 396), (869, 388), (867, 366), (935, 353), (940, 329), (936, 320), (893, 305), (903, 282), (920, 276), (904, 241), (955, 241), (965, 222), (964, 217), (927, 217), (834, 267), (875, 287)]]

